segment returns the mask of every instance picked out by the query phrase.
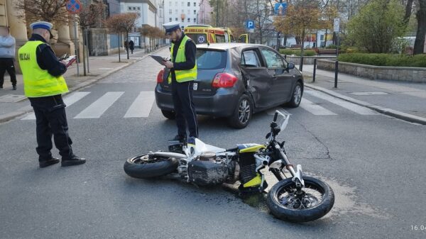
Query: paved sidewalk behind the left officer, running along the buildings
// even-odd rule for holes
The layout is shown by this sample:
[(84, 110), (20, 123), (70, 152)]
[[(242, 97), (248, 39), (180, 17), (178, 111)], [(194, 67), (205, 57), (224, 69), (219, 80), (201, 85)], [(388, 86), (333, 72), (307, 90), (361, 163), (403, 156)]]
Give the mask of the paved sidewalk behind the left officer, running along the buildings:
[[(162, 49), (159, 48), (158, 50)], [(86, 77), (83, 77), (82, 63), (79, 64), (80, 77), (77, 77), (77, 65), (75, 63), (72, 64), (64, 74), (70, 92), (87, 87), (89, 84), (93, 84), (99, 79), (107, 77), (109, 74), (128, 67), (148, 55), (143, 49), (138, 49), (133, 54), (130, 54), (130, 59), (127, 60), (126, 51), (120, 53), (121, 62), (119, 62), (118, 54), (89, 57), (89, 72), (87, 72)], [(18, 82), (18, 89), (13, 91), (9, 75), (6, 74), (4, 76), (4, 89), (0, 89), (0, 123), (10, 121), (13, 118), (32, 111), (28, 99), (23, 95), (22, 74), (16, 75), (16, 81)]]

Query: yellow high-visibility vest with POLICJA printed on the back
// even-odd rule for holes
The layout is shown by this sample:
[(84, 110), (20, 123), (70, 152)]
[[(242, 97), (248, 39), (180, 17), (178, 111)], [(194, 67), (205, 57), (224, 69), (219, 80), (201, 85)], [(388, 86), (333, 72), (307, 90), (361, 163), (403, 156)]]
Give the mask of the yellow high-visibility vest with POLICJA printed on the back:
[(54, 77), (38, 66), (36, 51), (41, 44), (44, 43), (40, 40), (28, 41), (18, 51), (25, 96), (35, 98), (68, 92), (64, 77)]

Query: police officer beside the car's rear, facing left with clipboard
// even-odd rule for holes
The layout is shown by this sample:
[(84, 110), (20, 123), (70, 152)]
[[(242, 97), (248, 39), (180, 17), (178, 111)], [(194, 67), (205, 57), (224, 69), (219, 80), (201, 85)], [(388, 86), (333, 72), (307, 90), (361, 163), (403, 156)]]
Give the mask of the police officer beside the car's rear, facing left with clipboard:
[(197, 113), (192, 100), (194, 80), (197, 79), (195, 43), (182, 32), (179, 22), (163, 24), (165, 34), (172, 40), (170, 61), (164, 62), (170, 69), (168, 82), (172, 84), (173, 104), (176, 113), (178, 135), (173, 140), (185, 141), (187, 126), (190, 138), (198, 138)]

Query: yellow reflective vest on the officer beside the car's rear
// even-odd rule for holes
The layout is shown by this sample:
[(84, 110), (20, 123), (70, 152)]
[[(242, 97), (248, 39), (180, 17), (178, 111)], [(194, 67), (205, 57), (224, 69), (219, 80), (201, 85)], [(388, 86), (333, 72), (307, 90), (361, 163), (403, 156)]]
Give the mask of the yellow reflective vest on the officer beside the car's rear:
[[(185, 45), (187, 40), (190, 40), (190, 38), (185, 35), (180, 42), (175, 61), (173, 61), (173, 49), (175, 48), (175, 44), (172, 43), (172, 48), (170, 49), (170, 53), (172, 54), (172, 62), (186, 62)], [(197, 60), (195, 60), (195, 66), (191, 70), (175, 70), (175, 76), (176, 82), (189, 82), (197, 79)], [(172, 74), (169, 74), (168, 82), (169, 84), (172, 83)]]

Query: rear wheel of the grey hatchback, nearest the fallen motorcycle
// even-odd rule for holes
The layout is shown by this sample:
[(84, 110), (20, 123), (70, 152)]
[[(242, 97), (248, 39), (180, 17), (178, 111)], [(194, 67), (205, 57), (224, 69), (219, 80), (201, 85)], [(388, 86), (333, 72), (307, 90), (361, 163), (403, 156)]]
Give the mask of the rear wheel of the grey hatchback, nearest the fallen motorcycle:
[(234, 113), (228, 118), (228, 123), (233, 128), (246, 128), (249, 125), (251, 116), (253, 115), (253, 104), (246, 94), (243, 94), (238, 105), (235, 107)]

